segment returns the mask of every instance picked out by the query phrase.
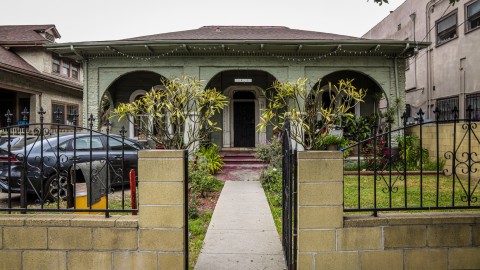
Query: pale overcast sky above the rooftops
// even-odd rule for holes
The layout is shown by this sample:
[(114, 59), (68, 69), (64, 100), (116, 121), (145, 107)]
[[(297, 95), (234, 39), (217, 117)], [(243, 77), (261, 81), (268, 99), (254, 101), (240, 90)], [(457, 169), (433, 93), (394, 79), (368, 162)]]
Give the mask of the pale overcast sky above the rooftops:
[(0, 25), (55, 24), (58, 42), (115, 40), (204, 25), (275, 25), (360, 37), (404, 0), (0, 0)]

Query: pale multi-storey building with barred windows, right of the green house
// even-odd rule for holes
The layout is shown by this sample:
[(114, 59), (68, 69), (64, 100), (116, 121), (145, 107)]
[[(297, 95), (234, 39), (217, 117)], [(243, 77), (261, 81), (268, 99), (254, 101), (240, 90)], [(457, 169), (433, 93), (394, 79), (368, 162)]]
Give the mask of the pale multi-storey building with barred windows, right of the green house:
[(448, 0), (406, 0), (363, 37), (405, 40), (413, 48), (416, 42), (431, 42), (406, 62), (406, 103), (412, 117), (422, 108), (426, 118), (434, 119), (439, 108), (444, 111), (440, 119), (449, 120), (457, 107), (463, 118), (471, 105), (480, 119), (478, 29), (480, 0), (454, 6)]

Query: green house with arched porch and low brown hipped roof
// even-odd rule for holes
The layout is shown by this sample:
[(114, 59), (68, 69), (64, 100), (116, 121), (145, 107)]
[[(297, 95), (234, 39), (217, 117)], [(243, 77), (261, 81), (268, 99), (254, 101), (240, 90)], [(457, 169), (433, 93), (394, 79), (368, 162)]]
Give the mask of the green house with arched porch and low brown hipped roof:
[[(419, 44), (421, 48), (426, 45)], [(229, 98), (228, 106), (215, 119), (222, 131), (211, 136), (226, 148), (254, 147), (272, 136), (272, 128), (259, 132), (255, 127), (267, 105), (264, 93), (274, 94), (268, 89), (275, 80), (321, 79), (322, 87), (339, 79), (355, 79), (358, 88), (368, 89), (365, 102), (355, 112), (369, 115), (378, 108), (374, 97), (379, 94), (387, 101), (404, 98), (404, 58), (414, 53), (414, 47), (405, 41), (279, 26), (205, 26), (127, 40), (47, 47), (84, 62), (84, 121), (90, 114), (98, 118), (103, 96), (116, 106), (145, 94), (160, 84), (161, 78), (188, 75), (203, 80), (205, 87), (215, 87)], [(137, 136), (126, 122), (114, 123), (113, 132), (122, 125), (129, 128), (131, 137)]]

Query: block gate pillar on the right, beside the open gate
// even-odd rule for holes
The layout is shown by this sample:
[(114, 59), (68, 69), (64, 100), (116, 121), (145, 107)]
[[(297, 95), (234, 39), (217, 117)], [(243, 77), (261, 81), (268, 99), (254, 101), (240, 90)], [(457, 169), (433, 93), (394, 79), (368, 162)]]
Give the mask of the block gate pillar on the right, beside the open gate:
[(313, 269), (315, 256), (336, 251), (343, 228), (343, 154), (298, 152), (298, 268)]

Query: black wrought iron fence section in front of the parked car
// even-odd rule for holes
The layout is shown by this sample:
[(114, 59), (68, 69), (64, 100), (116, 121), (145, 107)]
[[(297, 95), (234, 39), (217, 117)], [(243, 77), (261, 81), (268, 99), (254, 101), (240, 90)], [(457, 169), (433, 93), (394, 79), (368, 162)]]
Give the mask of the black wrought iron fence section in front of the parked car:
[[(62, 112), (53, 112), (54, 123), (45, 123), (43, 108), (37, 112), (39, 123), (12, 125), (12, 114), (5, 114), (7, 126), (0, 144), (0, 189), (7, 197), (0, 199), (3, 212), (112, 212), (136, 213), (128, 194), (130, 170), (137, 170), (140, 144), (111, 133), (109, 121), (105, 132), (94, 130), (93, 115), (88, 128), (77, 126), (78, 114), (69, 115), (72, 124), (61, 124)], [(22, 130), (22, 135), (12, 131)], [(61, 131), (69, 130), (65, 133)], [(62, 133), (62, 134), (61, 134)], [(134, 174), (132, 174), (134, 175)], [(135, 201), (135, 200), (133, 200)]]

